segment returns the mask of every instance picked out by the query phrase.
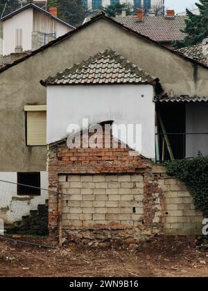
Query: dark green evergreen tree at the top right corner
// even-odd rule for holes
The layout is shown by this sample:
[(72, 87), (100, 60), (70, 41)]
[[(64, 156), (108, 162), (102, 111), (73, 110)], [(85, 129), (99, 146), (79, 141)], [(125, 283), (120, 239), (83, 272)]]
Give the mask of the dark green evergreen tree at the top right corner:
[(200, 10), (200, 15), (194, 15), (187, 9), (186, 28), (182, 30), (187, 36), (183, 41), (174, 43), (177, 48), (199, 44), (208, 36), (208, 0), (200, 0), (196, 6)]

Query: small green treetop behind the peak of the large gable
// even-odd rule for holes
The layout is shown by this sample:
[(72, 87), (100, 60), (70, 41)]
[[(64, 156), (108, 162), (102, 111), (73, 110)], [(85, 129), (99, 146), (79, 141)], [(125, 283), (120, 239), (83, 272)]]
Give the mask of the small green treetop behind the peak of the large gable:
[(101, 9), (108, 17), (116, 17), (116, 14), (121, 15), (122, 10), (126, 11), (126, 15), (132, 15), (134, 13), (134, 10), (129, 3), (121, 4), (119, 2), (116, 2), (111, 5), (107, 5), (106, 7), (101, 7)]

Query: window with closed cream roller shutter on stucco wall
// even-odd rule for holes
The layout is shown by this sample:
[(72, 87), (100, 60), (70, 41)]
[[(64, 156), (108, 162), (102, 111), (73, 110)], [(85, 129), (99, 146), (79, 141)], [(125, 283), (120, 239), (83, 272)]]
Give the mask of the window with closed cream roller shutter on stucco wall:
[(26, 145), (46, 145), (46, 105), (25, 106)]

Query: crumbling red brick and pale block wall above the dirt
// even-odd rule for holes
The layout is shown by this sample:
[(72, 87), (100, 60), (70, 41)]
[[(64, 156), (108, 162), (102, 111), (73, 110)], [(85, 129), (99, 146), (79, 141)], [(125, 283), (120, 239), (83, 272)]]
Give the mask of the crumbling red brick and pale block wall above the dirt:
[[(191, 235), (202, 229), (187, 188), (130, 148), (49, 147), (49, 188), (62, 193), (62, 230), (73, 240)], [(58, 197), (49, 193), (49, 229), (58, 231)]]

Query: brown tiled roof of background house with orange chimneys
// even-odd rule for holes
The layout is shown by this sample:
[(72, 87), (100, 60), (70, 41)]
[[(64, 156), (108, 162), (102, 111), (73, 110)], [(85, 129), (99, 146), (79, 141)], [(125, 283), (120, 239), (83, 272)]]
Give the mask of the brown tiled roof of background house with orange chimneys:
[(185, 34), (182, 29), (186, 27), (185, 19), (187, 16), (163, 17), (155, 16), (144, 17), (144, 21), (139, 21), (137, 16), (116, 17), (115, 21), (123, 24), (141, 35), (145, 35), (155, 42), (173, 42), (183, 40)]

